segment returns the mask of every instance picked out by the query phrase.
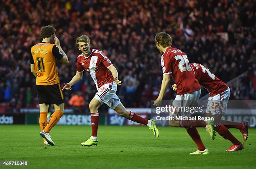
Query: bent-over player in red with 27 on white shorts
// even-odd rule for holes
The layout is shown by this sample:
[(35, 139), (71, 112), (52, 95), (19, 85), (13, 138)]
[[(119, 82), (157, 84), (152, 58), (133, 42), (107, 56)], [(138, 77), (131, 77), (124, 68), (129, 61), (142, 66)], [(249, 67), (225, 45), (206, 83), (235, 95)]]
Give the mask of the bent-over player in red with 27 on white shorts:
[[(223, 138), (228, 139), (233, 143), (233, 145), (226, 151), (233, 152), (243, 149), (243, 144), (228, 131), (228, 128), (240, 129), (240, 132), (243, 135), (243, 140), (246, 141), (248, 138), (248, 122), (237, 123), (221, 119), (222, 115), (226, 112), (227, 103), (230, 96), (230, 89), (228, 85), (212, 74), (207, 67), (204, 67), (199, 63), (192, 63), (190, 66), (192, 67), (195, 77), (200, 85), (205, 87), (210, 94), (206, 113), (209, 113), (212, 117), (214, 117), (214, 129)], [(174, 84), (172, 88), (174, 91), (176, 91), (177, 85)], [(210, 115), (207, 116), (209, 117)]]

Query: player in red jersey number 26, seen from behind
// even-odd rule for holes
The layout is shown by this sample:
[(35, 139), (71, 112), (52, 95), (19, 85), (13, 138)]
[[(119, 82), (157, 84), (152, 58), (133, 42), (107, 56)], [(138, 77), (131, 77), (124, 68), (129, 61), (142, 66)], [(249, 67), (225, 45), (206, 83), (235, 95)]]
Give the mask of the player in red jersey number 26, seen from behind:
[[(173, 104), (178, 107), (192, 107), (200, 97), (201, 87), (195, 79), (194, 72), (189, 65), (187, 55), (177, 48), (171, 47), (172, 37), (166, 32), (159, 32), (155, 36), (156, 47), (161, 54), (161, 66), (163, 70), (163, 80), (159, 96), (154, 102), (155, 106), (160, 106), (166, 89), (169, 87), (171, 75), (177, 84), (177, 96)], [(181, 116), (189, 116), (185, 112), (179, 112)], [(185, 127), (188, 134), (197, 144), (197, 151), (190, 154), (208, 154), (199, 133), (195, 127), (187, 127), (187, 121), (172, 121), (171, 126)]]

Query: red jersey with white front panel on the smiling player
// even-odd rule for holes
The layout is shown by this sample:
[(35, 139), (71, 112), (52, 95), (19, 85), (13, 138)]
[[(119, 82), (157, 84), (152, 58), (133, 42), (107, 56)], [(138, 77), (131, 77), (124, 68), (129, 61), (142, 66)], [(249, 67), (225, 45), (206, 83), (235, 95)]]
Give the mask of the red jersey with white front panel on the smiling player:
[(77, 72), (87, 70), (90, 72), (97, 89), (106, 83), (114, 81), (113, 76), (108, 71), (108, 67), (112, 66), (111, 61), (102, 50), (91, 49), (91, 55), (84, 57), (84, 54), (77, 57)]

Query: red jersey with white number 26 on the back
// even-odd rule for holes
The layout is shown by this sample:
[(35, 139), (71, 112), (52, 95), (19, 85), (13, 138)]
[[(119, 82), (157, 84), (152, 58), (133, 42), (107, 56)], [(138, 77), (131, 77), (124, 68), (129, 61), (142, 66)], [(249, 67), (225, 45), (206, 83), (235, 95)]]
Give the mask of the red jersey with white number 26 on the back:
[(195, 74), (189, 65), (187, 55), (179, 49), (168, 47), (161, 56), (163, 75), (172, 74), (177, 85), (177, 94), (186, 94), (200, 90)]

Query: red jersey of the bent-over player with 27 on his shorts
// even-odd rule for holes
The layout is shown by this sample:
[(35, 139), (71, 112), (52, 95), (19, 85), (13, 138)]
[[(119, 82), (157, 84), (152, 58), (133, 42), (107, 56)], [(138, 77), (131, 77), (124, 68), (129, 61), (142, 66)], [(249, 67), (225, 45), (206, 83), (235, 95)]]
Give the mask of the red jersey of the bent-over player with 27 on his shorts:
[(228, 89), (228, 85), (222, 82), (218, 77), (215, 77), (206, 67), (199, 63), (190, 64), (192, 67), (195, 78), (198, 80), (202, 87), (205, 87), (213, 97)]

